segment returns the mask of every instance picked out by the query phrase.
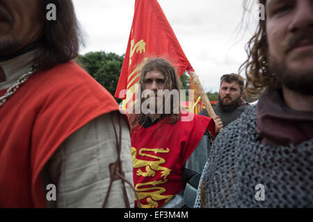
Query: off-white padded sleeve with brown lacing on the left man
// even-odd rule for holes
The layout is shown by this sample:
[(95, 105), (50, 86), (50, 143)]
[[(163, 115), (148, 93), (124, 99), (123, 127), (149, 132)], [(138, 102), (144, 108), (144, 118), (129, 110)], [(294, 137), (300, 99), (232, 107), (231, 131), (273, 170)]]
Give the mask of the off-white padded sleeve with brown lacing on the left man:
[[(109, 164), (118, 156), (112, 117), (111, 113), (103, 114), (70, 135), (45, 166), (44, 185), (49, 181), (56, 185), (54, 207), (102, 207), (110, 183)], [(133, 185), (129, 128), (121, 114), (114, 117), (117, 135), (118, 118), (122, 123), (122, 170)], [(134, 190), (127, 183), (125, 186), (129, 204), (134, 207)], [(48, 207), (53, 206), (48, 202)], [(122, 180), (113, 182), (106, 207), (125, 207)]]

